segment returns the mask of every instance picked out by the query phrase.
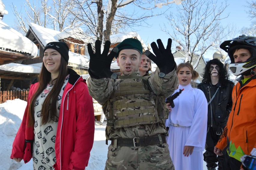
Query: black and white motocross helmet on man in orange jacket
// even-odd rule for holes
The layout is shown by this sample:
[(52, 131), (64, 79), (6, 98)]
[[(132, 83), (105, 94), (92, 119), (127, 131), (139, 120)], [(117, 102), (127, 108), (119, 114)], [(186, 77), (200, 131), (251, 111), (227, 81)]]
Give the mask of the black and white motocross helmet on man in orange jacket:
[[(220, 48), (228, 53), (231, 60), (229, 68), (235, 76), (240, 74), (250, 75), (251, 69), (256, 67), (256, 37), (241, 35), (237, 38), (224, 41), (221, 43)], [(235, 63), (233, 53), (236, 49), (241, 48), (248, 49), (251, 57), (245, 62)]]

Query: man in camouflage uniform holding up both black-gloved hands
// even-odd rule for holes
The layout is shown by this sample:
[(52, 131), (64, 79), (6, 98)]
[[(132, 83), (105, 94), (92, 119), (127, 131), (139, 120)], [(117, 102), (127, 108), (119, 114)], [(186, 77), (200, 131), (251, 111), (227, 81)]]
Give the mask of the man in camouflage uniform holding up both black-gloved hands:
[[(139, 40), (123, 40), (109, 55), (109, 41), (102, 54), (99, 40), (95, 42), (95, 53), (88, 44), (89, 93), (102, 105), (107, 118), (106, 138), (111, 140), (105, 170), (174, 170), (164, 120), (169, 113), (165, 98), (178, 83), (176, 64), (171, 53), (172, 40), (168, 40), (166, 49), (160, 39), (157, 43), (158, 47), (151, 43), (156, 56), (145, 51), (159, 67), (148, 77), (139, 74), (142, 64)], [(118, 78), (110, 70), (114, 56), (120, 66)]]

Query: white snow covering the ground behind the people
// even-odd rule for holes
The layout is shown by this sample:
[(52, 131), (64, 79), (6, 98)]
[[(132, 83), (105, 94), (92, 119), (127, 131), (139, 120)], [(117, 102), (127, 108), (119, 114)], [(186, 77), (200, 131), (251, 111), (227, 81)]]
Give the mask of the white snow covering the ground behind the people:
[[(32, 160), (16, 163), (10, 159), (12, 143), (20, 127), (26, 102), (20, 99), (7, 100), (0, 104), (0, 170), (30, 170), (33, 169)], [(102, 126), (95, 125), (94, 143), (91, 150), (89, 164), (86, 170), (104, 170), (108, 154), (105, 144), (106, 121)], [(108, 142), (110, 145), (110, 142)], [(206, 170), (204, 162), (204, 170)]]

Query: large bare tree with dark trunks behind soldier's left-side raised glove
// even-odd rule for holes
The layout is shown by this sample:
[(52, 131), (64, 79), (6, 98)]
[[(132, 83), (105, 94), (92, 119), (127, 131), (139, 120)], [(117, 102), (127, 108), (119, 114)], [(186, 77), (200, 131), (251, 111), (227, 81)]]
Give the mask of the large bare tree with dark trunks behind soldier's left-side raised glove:
[[(164, 13), (154, 13), (161, 0), (73, 0), (70, 12), (83, 24), (83, 30), (93, 39), (110, 40), (113, 33), (127, 28), (147, 26), (146, 19)], [(128, 8), (129, 7), (129, 8)]]

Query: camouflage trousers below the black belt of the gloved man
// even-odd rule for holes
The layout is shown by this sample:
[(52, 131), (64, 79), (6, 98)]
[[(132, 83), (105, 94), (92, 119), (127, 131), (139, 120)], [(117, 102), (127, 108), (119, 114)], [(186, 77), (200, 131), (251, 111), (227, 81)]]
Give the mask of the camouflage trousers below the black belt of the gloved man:
[(174, 170), (168, 144), (108, 147), (105, 170)]

